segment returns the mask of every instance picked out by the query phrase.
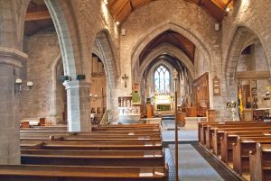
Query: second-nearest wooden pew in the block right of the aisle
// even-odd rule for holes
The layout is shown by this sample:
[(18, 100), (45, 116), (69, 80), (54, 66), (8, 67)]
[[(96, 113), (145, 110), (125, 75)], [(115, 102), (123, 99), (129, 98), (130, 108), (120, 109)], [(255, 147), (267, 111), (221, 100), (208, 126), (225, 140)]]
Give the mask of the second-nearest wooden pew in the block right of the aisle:
[(271, 137), (238, 137), (233, 144), (233, 169), (242, 176), (249, 173), (249, 152), (256, 151), (256, 143), (271, 143)]

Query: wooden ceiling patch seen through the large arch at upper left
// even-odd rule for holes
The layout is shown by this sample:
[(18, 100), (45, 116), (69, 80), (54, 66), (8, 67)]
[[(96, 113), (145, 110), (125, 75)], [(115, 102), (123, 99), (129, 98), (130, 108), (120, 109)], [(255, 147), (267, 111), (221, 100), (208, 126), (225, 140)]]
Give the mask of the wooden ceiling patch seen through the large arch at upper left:
[(44, 30), (54, 30), (51, 15), (43, 0), (32, 0), (25, 15), (24, 35), (31, 36)]

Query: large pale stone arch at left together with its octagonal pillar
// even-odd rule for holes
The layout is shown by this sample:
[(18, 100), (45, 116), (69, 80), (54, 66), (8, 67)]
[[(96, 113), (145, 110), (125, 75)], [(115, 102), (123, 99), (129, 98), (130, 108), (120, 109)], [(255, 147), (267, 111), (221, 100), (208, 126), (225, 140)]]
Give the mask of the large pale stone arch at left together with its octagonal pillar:
[[(25, 2), (27, 3), (21, 17), (22, 22), (24, 22), (30, 0)], [(89, 82), (77, 78), (78, 75), (83, 74), (83, 66), (79, 48), (79, 32), (75, 28), (77, 24), (74, 14), (71, 13), (72, 10), (65, 1), (44, 0), (44, 2), (58, 35), (64, 75), (69, 77), (69, 80), (63, 83), (67, 90), (69, 131), (91, 131), (89, 101), (86, 98), (89, 96)], [(23, 33), (21, 36), (23, 37)]]

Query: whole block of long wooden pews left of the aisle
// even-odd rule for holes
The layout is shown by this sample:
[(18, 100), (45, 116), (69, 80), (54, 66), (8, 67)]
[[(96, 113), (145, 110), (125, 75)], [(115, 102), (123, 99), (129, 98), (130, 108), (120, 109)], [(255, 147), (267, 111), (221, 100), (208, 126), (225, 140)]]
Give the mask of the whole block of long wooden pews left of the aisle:
[(158, 124), (23, 128), (21, 165), (0, 166), (0, 181), (167, 180)]

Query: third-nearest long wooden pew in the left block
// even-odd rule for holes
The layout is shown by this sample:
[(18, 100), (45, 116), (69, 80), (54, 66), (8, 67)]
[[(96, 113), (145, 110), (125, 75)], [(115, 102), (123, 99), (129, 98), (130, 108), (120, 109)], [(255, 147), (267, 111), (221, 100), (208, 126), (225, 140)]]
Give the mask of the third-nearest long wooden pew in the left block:
[(21, 149), (162, 150), (161, 141), (35, 141), (21, 140)]

